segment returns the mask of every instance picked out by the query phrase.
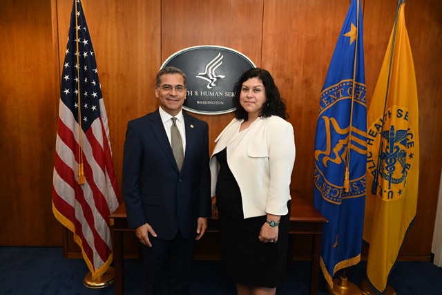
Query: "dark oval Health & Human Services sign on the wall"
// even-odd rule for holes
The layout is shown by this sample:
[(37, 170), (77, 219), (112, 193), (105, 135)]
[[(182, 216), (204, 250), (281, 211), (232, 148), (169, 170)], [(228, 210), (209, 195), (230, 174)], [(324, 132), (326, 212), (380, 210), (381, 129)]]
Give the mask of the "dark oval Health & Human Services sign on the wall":
[(233, 85), (242, 73), (256, 68), (242, 53), (222, 46), (194, 46), (173, 53), (161, 68), (175, 66), (187, 77), (182, 108), (192, 113), (218, 115), (235, 110)]

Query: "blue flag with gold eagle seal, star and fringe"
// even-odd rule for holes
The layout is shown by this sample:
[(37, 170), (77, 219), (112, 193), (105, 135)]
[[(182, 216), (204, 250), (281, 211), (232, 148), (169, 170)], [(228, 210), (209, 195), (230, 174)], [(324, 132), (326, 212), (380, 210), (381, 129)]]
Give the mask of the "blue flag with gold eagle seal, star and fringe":
[(314, 206), (323, 227), (320, 265), (329, 286), (361, 260), (367, 163), (367, 99), (360, 0), (352, 0), (320, 95)]

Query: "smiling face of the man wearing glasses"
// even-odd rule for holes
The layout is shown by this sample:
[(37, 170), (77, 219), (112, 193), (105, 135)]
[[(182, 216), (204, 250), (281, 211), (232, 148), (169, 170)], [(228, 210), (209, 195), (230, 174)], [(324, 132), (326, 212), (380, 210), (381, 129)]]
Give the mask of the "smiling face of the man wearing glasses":
[(169, 115), (175, 116), (180, 113), (186, 99), (186, 87), (182, 75), (163, 74), (160, 86), (155, 87), (155, 97), (160, 101), (160, 107)]

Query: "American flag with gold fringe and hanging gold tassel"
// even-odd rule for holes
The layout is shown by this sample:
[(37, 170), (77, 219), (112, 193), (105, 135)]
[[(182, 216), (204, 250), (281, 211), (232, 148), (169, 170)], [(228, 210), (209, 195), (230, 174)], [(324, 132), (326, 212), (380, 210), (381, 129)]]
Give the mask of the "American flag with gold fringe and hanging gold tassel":
[(112, 262), (109, 215), (119, 197), (95, 53), (74, 0), (61, 75), (52, 211), (73, 232), (93, 280)]

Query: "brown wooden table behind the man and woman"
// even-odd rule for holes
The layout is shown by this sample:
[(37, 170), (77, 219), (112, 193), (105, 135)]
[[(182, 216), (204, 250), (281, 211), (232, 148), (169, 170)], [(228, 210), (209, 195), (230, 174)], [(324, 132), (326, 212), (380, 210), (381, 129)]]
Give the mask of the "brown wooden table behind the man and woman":
[[(123, 287), (123, 232), (133, 231), (127, 227), (126, 206), (120, 204), (117, 210), (110, 216), (113, 219), (114, 234), (114, 265), (115, 265), (115, 294), (124, 294)], [(294, 254), (294, 235), (311, 235), (313, 237), (313, 249), (311, 252), (310, 293), (318, 294), (320, 240), (323, 234), (323, 223), (327, 219), (315, 209), (313, 204), (302, 198), (296, 191), (291, 192), (291, 216), (290, 216), (290, 245), (287, 260), (291, 263)], [(208, 231), (218, 231), (218, 219), (209, 218)]]

